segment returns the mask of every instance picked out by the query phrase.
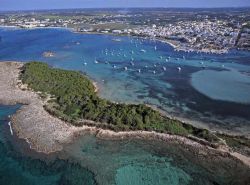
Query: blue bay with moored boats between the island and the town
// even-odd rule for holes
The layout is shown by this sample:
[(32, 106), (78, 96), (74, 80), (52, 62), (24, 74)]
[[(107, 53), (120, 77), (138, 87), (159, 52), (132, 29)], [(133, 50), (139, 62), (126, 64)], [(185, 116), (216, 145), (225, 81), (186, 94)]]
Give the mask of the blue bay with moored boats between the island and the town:
[[(132, 37), (115, 42), (114, 36), (66, 29), (1, 28), (0, 35), (1, 61), (39, 60), (79, 70), (98, 82), (104, 98), (153, 104), (210, 129), (250, 135), (250, 52), (185, 53), (161, 42)], [(45, 51), (55, 57), (44, 58)]]

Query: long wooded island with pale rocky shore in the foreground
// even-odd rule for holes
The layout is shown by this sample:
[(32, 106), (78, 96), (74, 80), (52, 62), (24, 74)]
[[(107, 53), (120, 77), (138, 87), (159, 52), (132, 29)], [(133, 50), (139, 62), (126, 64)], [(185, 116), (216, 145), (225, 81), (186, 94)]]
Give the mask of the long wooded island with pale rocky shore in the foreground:
[(11, 117), (14, 133), (38, 152), (60, 151), (88, 132), (106, 139), (175, 142), (250, 166), (248, 138), (212, 133), (166, 117), (144, 104), (102, 99), (93, 82), (81, 72), (52, 68), (42, 62), (1, 62), (0, 78), (0, 104), (23, 105)]

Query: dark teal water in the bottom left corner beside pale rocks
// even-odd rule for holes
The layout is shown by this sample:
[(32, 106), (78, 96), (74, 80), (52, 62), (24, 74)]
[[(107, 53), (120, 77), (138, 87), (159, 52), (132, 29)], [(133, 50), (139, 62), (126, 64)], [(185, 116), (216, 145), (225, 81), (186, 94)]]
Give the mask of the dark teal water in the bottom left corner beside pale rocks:
[(79, 164), (60, 159), (46, 163), (39, 158), (27, 157), (21, 153), (20, 148), (15, 147), (13, 144), (15, 137), (10, 134), (8, 126), (8, 115), (15, 113), (19, 107), (19, 105), (0, 105), (0, 184), (95, 184), (93, 173)]

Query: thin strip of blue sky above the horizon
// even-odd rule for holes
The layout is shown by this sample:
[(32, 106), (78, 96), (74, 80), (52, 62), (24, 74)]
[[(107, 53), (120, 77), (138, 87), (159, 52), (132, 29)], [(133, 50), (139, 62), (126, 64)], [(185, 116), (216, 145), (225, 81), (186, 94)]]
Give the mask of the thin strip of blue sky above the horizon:
[(129, 7), (250, 7), (250, 0), (0, 0), (0, 10)]

